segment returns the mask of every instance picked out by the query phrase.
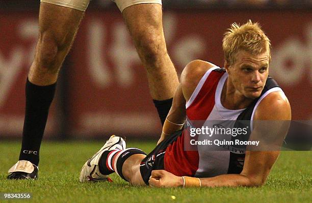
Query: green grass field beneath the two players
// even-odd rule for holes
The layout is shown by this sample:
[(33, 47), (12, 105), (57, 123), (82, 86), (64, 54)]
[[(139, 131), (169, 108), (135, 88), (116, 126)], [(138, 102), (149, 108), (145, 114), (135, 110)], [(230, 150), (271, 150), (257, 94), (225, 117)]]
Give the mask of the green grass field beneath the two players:
[[(149, 152), (154, 143), (127, 142), (127, 146)], [(99, 142), (43, 142), (39, 179), (8, 181), (7, 171), (17, 161), (20, 143), (1, 141), (0, 193), (32, 193), (27, 202), (312, 202), (311, 151), (283, 151), (261, 188), (134, 187), (115, 174), (111, 175), (114, 183), (79, 183), (82, 165), (101, 146)], [(21, 201), (25, 200), (17, 200)]]

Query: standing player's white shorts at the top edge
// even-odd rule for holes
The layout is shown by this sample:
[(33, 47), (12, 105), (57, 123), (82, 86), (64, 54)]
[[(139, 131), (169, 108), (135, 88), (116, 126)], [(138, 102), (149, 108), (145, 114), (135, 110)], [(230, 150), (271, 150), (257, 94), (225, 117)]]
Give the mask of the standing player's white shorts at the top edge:
[[(49, 4), (56, 4), (59, 6), (64, 6), (72, 9), (77, 9), (80, 11), (86, 11), (90, 0), (40, 0), (40, 2), (45, 2)], [(162, 5), (162, 0), (112, 0), (118, 6), (119, 10), (122, 12), (123, 9), (136, 5), (136, 4), (160, 4)]]

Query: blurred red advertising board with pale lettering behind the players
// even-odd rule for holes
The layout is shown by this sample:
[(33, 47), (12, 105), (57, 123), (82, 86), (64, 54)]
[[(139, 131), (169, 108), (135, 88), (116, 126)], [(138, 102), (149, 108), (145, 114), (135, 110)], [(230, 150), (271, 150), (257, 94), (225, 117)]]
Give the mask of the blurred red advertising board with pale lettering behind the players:
[[(270, 75), (284, 89), (294, 120), (312, 119), (310, 9), (166, 9), (168, 52), (180, 73), (194, 59), (223, 65), (223, 33), (258, 21), (272, 41)], [(0, 11), (0, 139), (18, 137), (24, 84), (38, 36), (38, 9)], [(161, 125), (147, 78), (117, 8), (89, 9), (58, 82), (45, 138), (106, 134), (158, 136)]]

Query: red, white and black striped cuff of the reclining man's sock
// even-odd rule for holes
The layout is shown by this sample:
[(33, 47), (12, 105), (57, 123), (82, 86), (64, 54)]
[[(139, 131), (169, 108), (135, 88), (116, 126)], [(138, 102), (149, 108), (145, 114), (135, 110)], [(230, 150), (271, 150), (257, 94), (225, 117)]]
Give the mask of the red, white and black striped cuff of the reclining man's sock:
[(144, 154), (146, 155), (146, 153), (144, 151), (142, 151), (141, 149), (138, 148), (127, 148), (124, 149), (122, 151), (119, 151), (118, 153), (116, 153), (114, 160), (112, 162), (113, 169), (115, 170), (115, 172), (125, 181), (128, 181), (127, 179), (125, 179), (125, 177), (122, 174), (122, 165), (123, 163), (126, 161), (126, 159), (128, 159), (129, 156), (132, 156), (134, 154)]

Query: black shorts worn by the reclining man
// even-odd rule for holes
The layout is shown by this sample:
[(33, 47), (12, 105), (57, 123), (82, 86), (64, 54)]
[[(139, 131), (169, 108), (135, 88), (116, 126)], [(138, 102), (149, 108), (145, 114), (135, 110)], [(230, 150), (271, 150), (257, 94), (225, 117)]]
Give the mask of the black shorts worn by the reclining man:
[(152, 150), (141, 162), (140, 172), (143, 181), (148, 185), (149, 177), (152, 170), (164, 169), (164, 157), (167, 147), (176, 141), (176, 139), (182, 134), (183, 130), (179, 130), (171, 134), (167, 139), (159, 143), (154, 150)]

